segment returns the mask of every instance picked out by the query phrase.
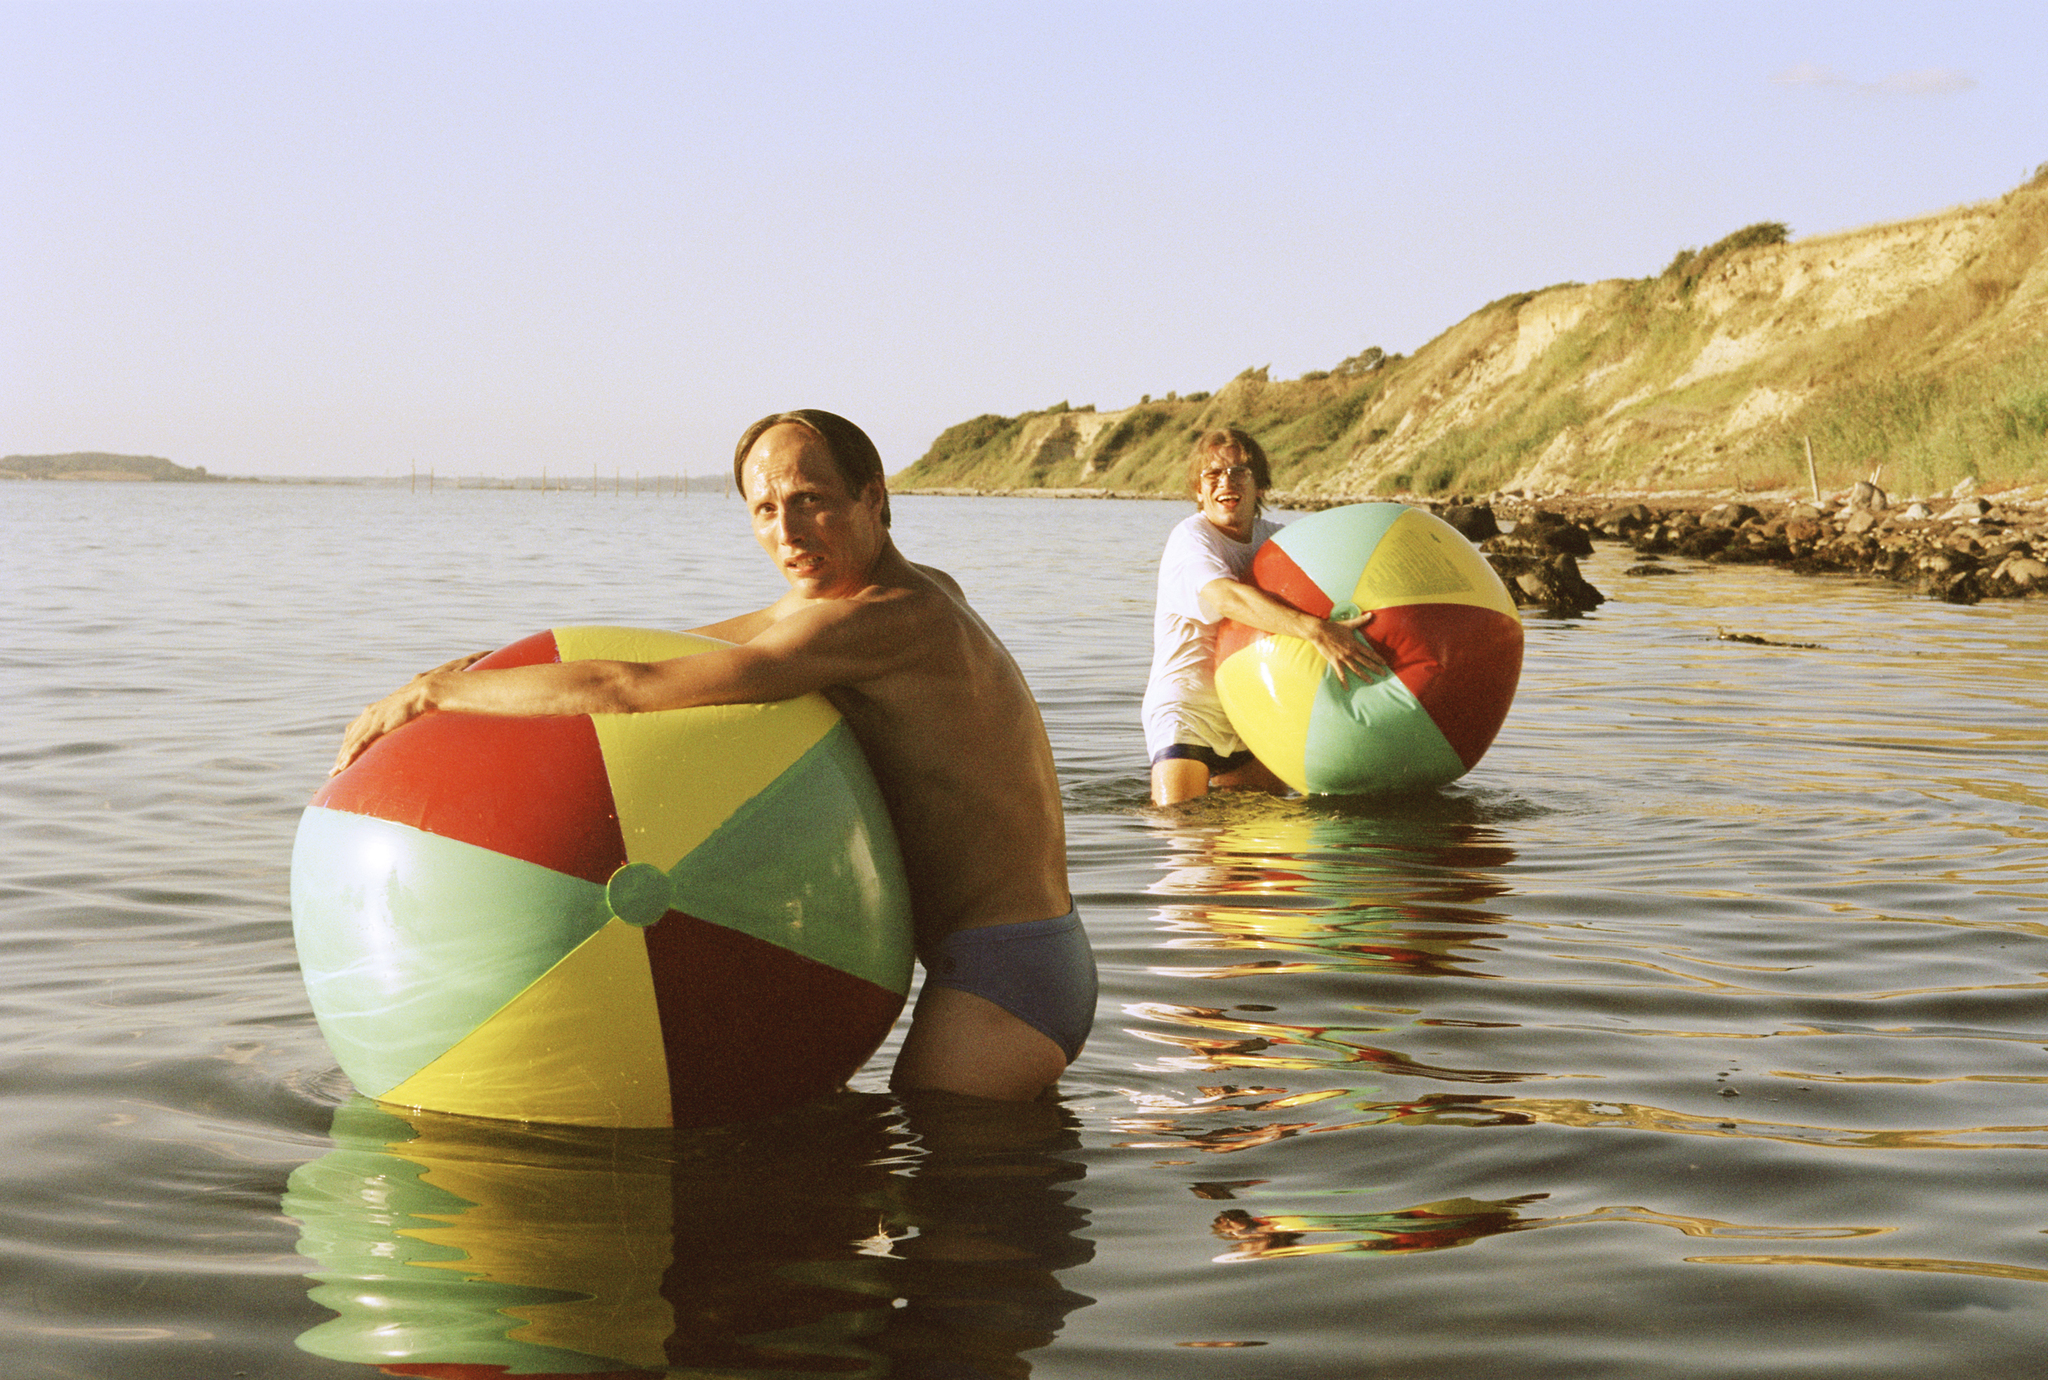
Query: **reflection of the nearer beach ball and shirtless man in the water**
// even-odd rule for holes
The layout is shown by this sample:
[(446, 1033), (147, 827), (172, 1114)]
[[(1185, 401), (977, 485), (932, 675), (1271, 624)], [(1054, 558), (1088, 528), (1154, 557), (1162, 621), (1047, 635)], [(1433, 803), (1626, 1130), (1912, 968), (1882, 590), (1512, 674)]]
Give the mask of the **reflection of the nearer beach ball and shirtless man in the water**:
[(338, 1314), (299, 1345), (385, 1374), (1006, 1376), (1090, 1302), (1053, 1104), (608, 1132), (354, 1099), (334, 1142), (283, 1204)]

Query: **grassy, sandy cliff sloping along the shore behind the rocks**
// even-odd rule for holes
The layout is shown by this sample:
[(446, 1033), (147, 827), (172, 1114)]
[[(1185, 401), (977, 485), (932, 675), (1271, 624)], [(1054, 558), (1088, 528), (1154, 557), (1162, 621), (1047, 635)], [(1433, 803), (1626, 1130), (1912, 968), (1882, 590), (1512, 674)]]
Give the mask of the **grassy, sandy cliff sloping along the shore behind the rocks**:
[(1489, 303), (1413, 356), (1366, 350), (1120, 412), (948, 428), (895, 483), (1178, 491), (1243, 426), (1303, 495), (2048, 481), (2048, 164), (1970, 207), (1790, 240), (1749, 225), (1655, 278)]

